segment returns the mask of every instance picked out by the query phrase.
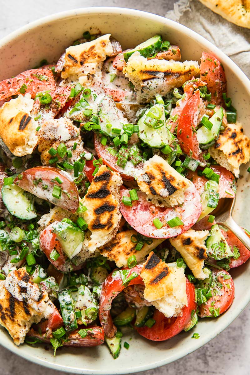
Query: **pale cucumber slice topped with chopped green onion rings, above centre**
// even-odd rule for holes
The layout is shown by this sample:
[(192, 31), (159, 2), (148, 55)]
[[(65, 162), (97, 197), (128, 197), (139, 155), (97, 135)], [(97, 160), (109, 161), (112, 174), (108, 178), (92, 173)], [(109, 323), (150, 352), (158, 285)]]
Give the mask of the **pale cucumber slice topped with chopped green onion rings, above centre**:
[[(163, 121), (163, 126), (155, 129), (154, 127), (148, 126), (144, 123), (147, 114), (151, 111), (160, 111), (160, 120)], [(175, 136), (166, 128), (166, 118), (163, 104), (155, 104), (153, 107), (148, 108), (144, 115), (138, 121), (139, 132), (138, 136), (142, 142), (147, 143), (150, 147), (162, 148), (169, 143), (172, 143)]]

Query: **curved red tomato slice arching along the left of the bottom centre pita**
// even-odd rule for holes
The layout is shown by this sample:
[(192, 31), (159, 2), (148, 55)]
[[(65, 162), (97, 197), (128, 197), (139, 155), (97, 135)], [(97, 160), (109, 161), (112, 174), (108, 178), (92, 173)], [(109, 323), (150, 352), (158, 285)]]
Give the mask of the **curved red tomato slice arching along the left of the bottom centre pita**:
[[(137, 266), (131, 268), (128, 272), (127, 278), (134, 272), (137, 273), (138, 276), (129, 282), (128, 285), (123, 285), (123, 280), (121, 279), (121, 275), (118, 270), (113, 271), (103, 282), (102, 284), (102, 293), (100, 295), (100, 308), (99, 308), (99, 319), (100, 323), (104, 329), (105, 335), (108, 337), (114, 337), (115, 333), (117, 332), (116, 327), (113, 324), (110, 309), (112, 300), (117, 296), (117, 294), (121, 293), (124, 288), (129, 285), (135, 284), (143, 284), (142, 278), (140, 276), (140, 272), (142, 269), (142, 265), (138, 264)], [(126, 270), (126, 269), (122, 269)], [(117, 273), (114, 275), (114, 272)]]

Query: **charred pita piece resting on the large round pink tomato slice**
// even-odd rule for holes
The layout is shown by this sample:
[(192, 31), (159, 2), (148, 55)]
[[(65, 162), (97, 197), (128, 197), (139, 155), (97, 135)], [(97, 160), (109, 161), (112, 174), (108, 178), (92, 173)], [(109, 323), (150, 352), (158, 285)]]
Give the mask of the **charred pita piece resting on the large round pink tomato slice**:
[(159, 207), (182, 204), (184, 191), (191, 184), (159, 155), (147, 160), (136, 177), (140, 190), (147, 194), (147, 201)]

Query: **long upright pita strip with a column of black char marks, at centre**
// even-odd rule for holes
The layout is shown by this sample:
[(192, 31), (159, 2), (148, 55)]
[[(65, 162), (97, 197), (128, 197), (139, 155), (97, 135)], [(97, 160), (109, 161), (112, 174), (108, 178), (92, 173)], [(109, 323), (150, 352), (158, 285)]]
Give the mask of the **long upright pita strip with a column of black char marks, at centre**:
[(121, 220), (119, 192), (122, 183), (120, 174), (102, 165), (87, 194), (82, 198), (82, 204), (87, 207), (87, 211), (81, 215), (91, 231), (88, 244), (90, 253), (109, 242), (118, 231)]

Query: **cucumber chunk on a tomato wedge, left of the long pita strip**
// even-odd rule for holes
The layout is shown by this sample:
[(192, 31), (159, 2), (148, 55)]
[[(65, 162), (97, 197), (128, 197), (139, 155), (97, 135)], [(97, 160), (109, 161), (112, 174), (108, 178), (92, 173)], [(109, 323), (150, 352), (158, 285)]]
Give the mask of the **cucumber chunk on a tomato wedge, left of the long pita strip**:
[(75, 257), (82, 249), (84, 232), (76, 226), (66, 222), (58, 222), (53, 226), (53, 232), (57, 235), (64, 254), (70, 259)]

